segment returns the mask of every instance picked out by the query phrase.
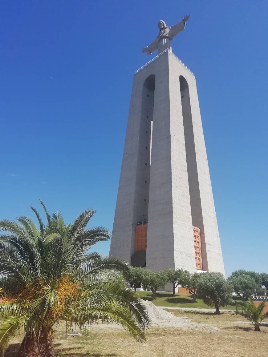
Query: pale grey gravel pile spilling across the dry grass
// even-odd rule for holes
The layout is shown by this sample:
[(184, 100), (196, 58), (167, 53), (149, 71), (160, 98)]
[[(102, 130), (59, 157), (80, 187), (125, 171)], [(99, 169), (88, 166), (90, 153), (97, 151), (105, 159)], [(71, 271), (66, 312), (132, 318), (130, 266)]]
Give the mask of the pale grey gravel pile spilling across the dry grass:
[(207, 332), (219, 331), (218, 327), (210, 326), (204, 323), (191, 322), (187, 317), (176, 317), (170, 312), (160, 309), (151, 301), (144, 301), (144, 304), (149, 313), (152, 326), (167, 326), (178, 328), (192, 328), (195, 330), (203, 330)]

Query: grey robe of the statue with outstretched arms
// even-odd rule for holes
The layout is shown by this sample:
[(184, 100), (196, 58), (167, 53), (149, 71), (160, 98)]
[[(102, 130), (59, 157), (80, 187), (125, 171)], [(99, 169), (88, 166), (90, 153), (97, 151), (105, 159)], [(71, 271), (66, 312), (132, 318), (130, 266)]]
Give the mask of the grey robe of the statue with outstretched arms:
[(166, 50), (167, 48), (170, 49), (171, 51), (171, 43), (170, 41), (173, 40), (173, 38), (178, 35), (180, 31), (183, 31), (185, 29), (185, 23), (183, 20), (178, 22), (178, 24), (175, 24), (173, 26), (167, 26), (165, 29), (161, 30), (159, 32), (159, 35), (157, 38), (147, 47), (147, 53), (150, 55), (152, 52), (158, 50), (158, 55)]

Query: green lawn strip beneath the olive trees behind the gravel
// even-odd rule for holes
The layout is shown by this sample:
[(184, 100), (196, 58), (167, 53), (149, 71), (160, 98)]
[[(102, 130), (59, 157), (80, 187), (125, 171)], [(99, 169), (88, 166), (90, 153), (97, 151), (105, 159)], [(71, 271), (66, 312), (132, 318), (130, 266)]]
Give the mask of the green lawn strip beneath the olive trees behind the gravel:
[[(172, 293), (168, 292), (158, 292), (156, 294), (156, 300), (153, 300), (152, 292), (150, 291), (137, 291), (137, 294), (143, 300), (150, 300), (156, 306), (170, 306), (170, 307), (191, 307), (191, 308), (204, 308), (204, 309), (212, 309), (208, 305), (203, 303), (203, 300), (196, 299), (196, 302), (192, 302), (192, 297), (187, 294), (175, 294), (172, 296)], [(239, 297), (233, 298), (234, 303), (232, 305), (227, 305), (222, 307), (223, 309), (227, 310), (235, 310), (235, 301), (240, 302), (241, 299)]]

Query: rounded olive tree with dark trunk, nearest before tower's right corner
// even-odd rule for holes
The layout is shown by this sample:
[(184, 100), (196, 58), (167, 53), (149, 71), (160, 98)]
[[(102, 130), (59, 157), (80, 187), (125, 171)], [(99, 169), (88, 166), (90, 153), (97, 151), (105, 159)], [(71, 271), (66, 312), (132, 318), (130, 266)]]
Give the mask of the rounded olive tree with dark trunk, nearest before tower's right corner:
[(232, 301), (232, 285), (222, 273), (207, 272), (200, 275), (198, 295), (208, 306), (215, 306), (215, 314), (220, 314), (220, 306)]

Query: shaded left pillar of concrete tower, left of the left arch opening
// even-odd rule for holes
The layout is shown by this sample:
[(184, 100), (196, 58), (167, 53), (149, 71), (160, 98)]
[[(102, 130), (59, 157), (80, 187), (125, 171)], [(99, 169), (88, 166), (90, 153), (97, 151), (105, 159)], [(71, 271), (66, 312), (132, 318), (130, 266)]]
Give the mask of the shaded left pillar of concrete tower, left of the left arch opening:
[(142, 214), (148, 220), (154, 80), (152, 71), (134, 76), (115, 208), (110, 255), (129, 262), (134, 253), (135, 226), (142, 221)]

